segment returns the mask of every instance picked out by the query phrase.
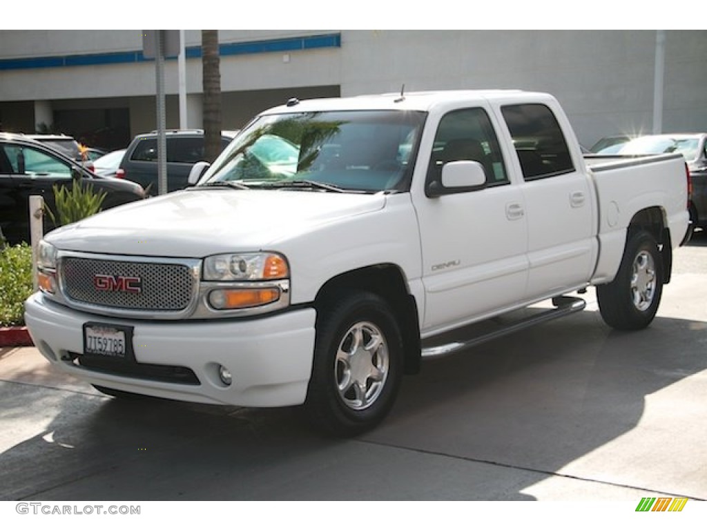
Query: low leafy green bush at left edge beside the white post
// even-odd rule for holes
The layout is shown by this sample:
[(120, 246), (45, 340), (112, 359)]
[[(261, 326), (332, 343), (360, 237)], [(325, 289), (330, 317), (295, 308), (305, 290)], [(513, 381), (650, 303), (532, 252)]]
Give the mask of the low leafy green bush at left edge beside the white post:
[(32, 291), (32, 249), (26, 243), (0, 248), (0, 326), (24, 324)]

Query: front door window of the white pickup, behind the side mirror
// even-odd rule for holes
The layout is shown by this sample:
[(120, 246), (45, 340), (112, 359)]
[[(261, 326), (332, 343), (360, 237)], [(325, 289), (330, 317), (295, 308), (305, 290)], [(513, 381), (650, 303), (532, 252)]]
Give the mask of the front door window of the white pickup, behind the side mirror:
[(496, 132), (484, 109), (455, 110), (440, 120), (428, 167), (428, 181), (440, 182), (443, 165), (457, 160), (480, 163), (486, 173), (487, 186), (508, 183)]

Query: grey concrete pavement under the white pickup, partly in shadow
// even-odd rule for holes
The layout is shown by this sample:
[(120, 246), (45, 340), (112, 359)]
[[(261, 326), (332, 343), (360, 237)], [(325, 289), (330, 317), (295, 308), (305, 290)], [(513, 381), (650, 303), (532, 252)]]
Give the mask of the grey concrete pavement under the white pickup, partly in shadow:
[(351, 440), (297, 408), (121, 402), (0, 350), (0, 500), (707, 500), (707, 235), (637, 333), (580, 314), (404, 380)]

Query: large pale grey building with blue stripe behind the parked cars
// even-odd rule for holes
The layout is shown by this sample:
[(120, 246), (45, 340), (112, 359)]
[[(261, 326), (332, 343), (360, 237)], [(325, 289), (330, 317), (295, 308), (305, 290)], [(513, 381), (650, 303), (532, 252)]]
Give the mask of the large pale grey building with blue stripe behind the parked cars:
[[(340, 47), (281, 49), (279, 43), (312, 35), (340, 35)], [(221, 57), (224, 126), (240, 128), (248, 117), (289, 97), (437, 90), (522, 88), (553, 93), (578, 137), (651, 132), (656, 35), (653, 30), (221, 30), (221, 45), (244, 47)], [(199, 31), (186, 32), (199, 47)], [(248, 52), (248, 49), (255, 52)], [(142, 49), (137, 30), (3, 31), (0, 69), (8, 61), (90, 57)], [(252, 51), (252, 50), (251, 50)], [(118, 55), (116, 55), (118, 57)], [(45, 61), (46, 62), (46, 61)], [(85, 61), (84, 61), (85, 62)], [(199, 102), (201, 60), (187, 59), (189, 100)], [(178, 126), (177, 61), (165, 64), (168, 126)], [(662, 129), (707, 127), (707, 32), (665, 32)], [(0, 120), (22, 124), (28, 102), (47, 100), (79, 111), (115, 100), (129, 109), (130, 129), (154, 129), (152, 61), (93, 66), (3, 69)], [(31, 105), (30, 105), (31, 107)], [(200, 112), (191, 112), (200, 119)], [(189, 123), (189, 126), (200, 124)]]

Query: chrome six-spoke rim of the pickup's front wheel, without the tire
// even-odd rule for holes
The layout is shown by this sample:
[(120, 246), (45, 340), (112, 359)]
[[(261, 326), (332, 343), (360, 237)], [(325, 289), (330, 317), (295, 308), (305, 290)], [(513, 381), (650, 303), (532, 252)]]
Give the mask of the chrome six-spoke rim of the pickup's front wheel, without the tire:
[(357, 322), (344, 334), (334, 366), (339, 397), (354, 411), (363, 411), (380, 397), (390, 367), (385, 336), (371, 322)]

